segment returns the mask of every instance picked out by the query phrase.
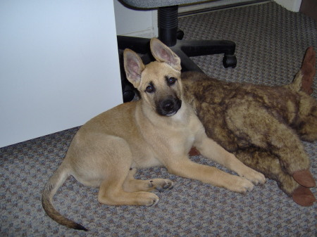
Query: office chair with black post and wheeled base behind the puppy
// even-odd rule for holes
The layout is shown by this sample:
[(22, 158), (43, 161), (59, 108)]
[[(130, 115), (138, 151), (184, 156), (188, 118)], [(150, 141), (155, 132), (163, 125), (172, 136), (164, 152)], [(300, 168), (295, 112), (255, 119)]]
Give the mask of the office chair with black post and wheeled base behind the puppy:
[[(194, 4), (201, 0), (120, 0), (125, 6), (136, 9), (158, 9), (159, 39), (170, 47), (181, 60), (182, 71), (202, 70), (189, 58), (192, 56), (204, 56), (224, 53), (223, 66), (235, 68), (235, 42), (229, 40), (182, 40), (183, 32), (178, 30), (178, 5)], [(141, 37), (118, 36), (118, 49), (132, 49), (136, 53), (143, 54), (145, 64), (151, 62), (149, 52), (150, 39)], [(123, 67), (121, 67), (123, 70)], [(121, 73), (122, 77), (124, 72)], [(123, 83), (123, 101), (131, 101), (134, 97), (132, 85), (127, 79)]]

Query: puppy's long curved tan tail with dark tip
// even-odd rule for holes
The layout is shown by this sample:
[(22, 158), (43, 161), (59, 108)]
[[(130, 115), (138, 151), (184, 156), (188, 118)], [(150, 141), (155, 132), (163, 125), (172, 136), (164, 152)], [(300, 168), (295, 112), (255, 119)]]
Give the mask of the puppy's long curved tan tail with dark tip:
[(63, 226), (67, 226), (68, 228), (78, 229), (82, 231), (88, 231), (84, 226), (73, 222), (66, 217), (63, 217), (61, 213), (59, 213), (53, 206), (52, 201), (53, 197), (58, 190), (58, 188), (66, 181), (69, 177), (68, 170), (63, 167), (63, 164), (58, 167), (56, 172), (53, 174), (49, 182), (46, 184), (44, 191), (42, 193), (42, 205), (46, 212), (46, 214), (54, 219), (54, 221), (62, 224)]

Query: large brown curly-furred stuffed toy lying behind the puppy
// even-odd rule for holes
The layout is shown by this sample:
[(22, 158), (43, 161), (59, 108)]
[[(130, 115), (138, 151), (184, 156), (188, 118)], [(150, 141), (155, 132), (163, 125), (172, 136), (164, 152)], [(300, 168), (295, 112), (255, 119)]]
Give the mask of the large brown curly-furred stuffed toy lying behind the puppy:
[[(184, 72), (187, 101), (206, 133), (246, 165), (262, 172), (303, 206), (316, 201), (316, 185), (300, 139), (317, 139), (317, 103), (312, 93), (316, 53), (306, 51), (292, 84), (280, 87), (221, 82)], [(193, 154), (194, 152), (192, 152)]]

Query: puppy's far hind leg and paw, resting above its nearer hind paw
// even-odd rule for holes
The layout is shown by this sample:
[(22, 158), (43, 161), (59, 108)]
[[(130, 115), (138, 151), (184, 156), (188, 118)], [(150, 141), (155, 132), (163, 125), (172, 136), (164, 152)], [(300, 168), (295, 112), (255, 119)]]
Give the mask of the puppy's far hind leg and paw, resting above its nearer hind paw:
[(169, 179), (149, 179), (140, 180), (135, 179), (135, 173), (137, 169), (130, 168), (128, 177), (125, 179), (123, 184), (123, 189), (127, 192), (137, 192), (137, 191), (153, 191), (154, 189), (162, 192), (173, 188), (173, 181)]

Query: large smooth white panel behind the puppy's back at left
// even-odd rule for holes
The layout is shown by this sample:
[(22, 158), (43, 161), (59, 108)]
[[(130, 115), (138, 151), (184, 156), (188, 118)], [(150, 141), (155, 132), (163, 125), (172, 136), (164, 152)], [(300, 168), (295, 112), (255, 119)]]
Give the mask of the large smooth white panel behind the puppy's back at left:
[(113, 1), (0, 1), (0, 147), (121, 102)]

